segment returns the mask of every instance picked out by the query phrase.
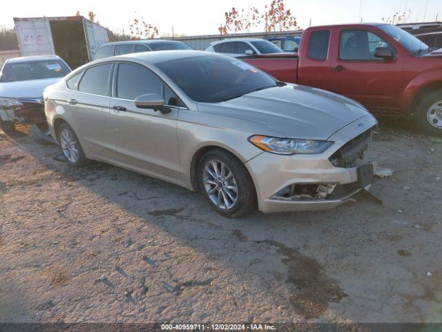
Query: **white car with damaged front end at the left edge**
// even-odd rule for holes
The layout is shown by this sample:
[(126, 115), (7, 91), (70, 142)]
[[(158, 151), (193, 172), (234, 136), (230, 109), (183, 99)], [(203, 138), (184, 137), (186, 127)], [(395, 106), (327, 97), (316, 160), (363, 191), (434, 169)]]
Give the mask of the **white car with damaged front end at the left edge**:
[(31, 122), (46, 129), (43, 91), (70, 73), (56, 55), (14, 57), (0, 71), (0, 128), (14, 131), (16, 123)]

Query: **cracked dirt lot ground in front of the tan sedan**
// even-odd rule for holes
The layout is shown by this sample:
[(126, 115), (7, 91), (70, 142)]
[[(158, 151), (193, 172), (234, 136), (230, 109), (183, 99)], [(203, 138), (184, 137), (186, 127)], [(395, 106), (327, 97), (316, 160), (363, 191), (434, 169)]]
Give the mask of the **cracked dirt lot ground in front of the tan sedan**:
[(0, 133), (0, 322), (442, 322), (442, 144), (381, 119), (394, 174), (326, 212), (199, 194)]

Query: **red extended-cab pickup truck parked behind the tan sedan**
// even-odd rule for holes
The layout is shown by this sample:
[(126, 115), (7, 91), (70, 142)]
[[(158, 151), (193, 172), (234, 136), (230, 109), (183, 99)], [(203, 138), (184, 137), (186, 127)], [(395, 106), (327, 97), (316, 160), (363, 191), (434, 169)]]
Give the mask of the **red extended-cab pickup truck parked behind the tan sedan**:
[(298, 55), (241, 59), (278, 80), (345, 95), (369, 111), (414, 115), (427, 133), (442, 135), (442, 49), (396, 26), (308, 28)]

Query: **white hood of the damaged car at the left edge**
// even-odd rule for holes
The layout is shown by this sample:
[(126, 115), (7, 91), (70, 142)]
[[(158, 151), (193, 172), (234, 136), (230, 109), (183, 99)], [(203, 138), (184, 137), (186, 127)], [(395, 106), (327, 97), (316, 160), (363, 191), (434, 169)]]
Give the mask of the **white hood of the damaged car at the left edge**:
[(0, 82), (0, 97), (41, 98), (46, 86), (57, 83), (63, 77), (17, 82)]

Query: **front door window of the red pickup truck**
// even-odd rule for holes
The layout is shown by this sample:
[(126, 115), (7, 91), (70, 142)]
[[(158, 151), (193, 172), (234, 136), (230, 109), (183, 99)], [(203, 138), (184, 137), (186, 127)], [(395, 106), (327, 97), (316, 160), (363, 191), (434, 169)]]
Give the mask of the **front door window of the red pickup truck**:
[(367, 30), (343, 30), (340, 33), (339, 59), (382, 60), (374, 56), (378, 47), (392, 48), (384, 39)]

